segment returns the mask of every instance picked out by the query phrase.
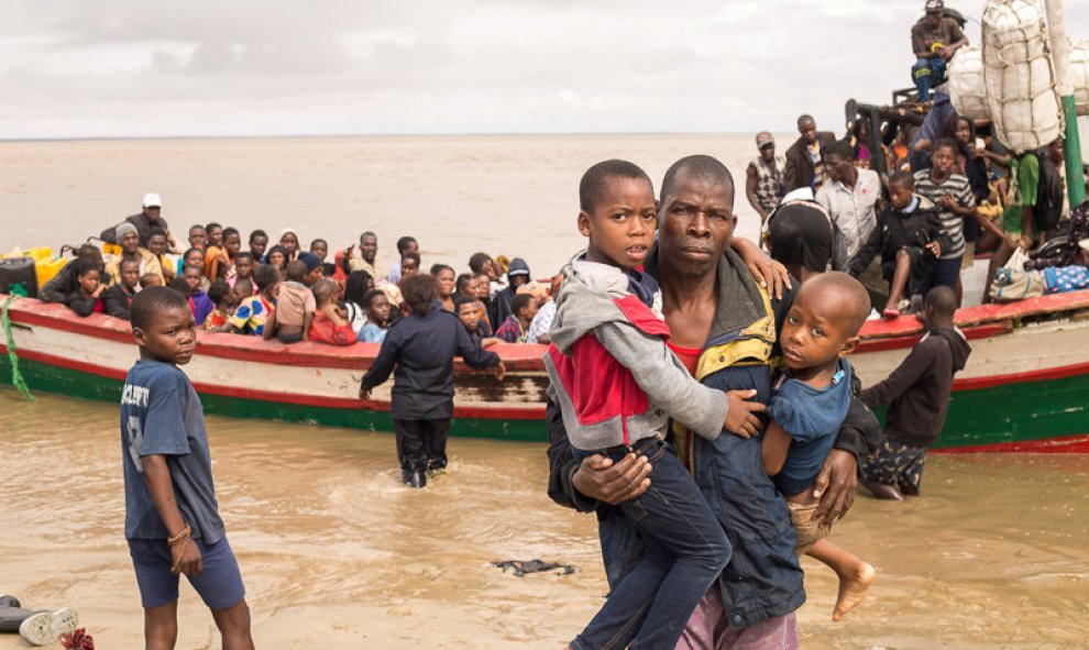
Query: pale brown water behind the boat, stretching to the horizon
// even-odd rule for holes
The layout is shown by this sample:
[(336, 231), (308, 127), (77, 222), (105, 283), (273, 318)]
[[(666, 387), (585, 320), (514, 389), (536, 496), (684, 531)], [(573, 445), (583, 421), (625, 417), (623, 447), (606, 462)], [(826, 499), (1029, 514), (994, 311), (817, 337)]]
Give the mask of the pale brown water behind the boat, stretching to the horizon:
[[(790, 145), (781, 137), (782, 148)], [(179, 242), (194, 223), (298, 229), (308, 245), (378, 234), (420, 240), (426, 265), (465, 266), (483, 250), (525, 257), (550, 275), (584, 245), (575, 230), (579, 178), (590, 165), (626, 158), (654, 184), (678, 158), (706, 153), (738, 181), (756, 155), (749, 135), (492, 135), (0, 142), (0, 252), (79, 243), (162, 195)], [(740, 233), (758, 230), (744, 194)]]

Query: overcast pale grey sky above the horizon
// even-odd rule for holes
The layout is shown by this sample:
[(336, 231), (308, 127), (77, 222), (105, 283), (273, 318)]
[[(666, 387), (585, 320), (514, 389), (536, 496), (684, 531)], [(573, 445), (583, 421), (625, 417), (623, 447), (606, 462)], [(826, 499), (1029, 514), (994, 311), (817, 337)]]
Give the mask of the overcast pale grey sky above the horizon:
[(838, 131), (910, 86), (922, 5), (0, 0), (0, 137)]

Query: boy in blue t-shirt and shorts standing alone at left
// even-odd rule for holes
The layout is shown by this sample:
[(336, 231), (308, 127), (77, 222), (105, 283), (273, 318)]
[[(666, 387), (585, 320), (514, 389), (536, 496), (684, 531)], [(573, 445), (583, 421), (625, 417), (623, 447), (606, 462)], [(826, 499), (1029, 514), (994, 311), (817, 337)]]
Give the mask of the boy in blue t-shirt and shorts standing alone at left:
[(250, 609), (212, 484), (204, 410), (189, 378), (197, 332), (186, 299), (166, 287), (130, 308), (140, 361), (121, 396), (124, 536), (144, 607), (147, 648), (174, 648), (178, 575), (211, 609), (223, 648), (253, 648)]

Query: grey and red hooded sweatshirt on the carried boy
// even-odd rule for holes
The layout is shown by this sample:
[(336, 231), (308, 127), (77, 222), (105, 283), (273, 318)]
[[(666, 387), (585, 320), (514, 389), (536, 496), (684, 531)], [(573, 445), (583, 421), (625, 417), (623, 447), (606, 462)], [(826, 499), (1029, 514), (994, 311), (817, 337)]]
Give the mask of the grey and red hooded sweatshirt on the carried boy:
[[(544, 365), (572, 447), (596, 451), (663, 438), (669, 417), (717, 438), (726, 396), (695, 381), (666, 345), (657, 283), (578, 257), (562, 274)], [(651, 307), (631, 293), (635, 284), (652, 291)]]

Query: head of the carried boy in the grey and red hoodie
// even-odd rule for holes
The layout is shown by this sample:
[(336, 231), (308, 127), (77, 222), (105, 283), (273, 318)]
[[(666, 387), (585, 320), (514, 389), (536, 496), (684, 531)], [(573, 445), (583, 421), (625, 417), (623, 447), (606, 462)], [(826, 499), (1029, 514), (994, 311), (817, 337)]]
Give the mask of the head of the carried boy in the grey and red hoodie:
[(597, 163), (579, 184), (579, 232), (586, 258), (630, 271), (654, 243), (658, 209), (647, 173), (627, 161)]

